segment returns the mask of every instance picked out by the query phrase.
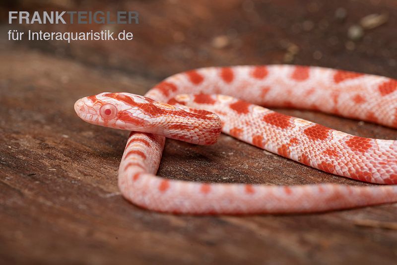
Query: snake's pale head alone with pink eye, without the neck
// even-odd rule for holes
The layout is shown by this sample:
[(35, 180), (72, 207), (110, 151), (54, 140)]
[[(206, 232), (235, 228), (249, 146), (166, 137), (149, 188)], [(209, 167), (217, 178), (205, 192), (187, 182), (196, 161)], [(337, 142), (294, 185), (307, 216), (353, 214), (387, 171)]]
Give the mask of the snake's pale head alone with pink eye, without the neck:
[(129, 93), (103, 92), (77, 100), (74, 111), (90, 124), (142, 132), (150, 125), (139, 108), (144, 100), (142, 96)]

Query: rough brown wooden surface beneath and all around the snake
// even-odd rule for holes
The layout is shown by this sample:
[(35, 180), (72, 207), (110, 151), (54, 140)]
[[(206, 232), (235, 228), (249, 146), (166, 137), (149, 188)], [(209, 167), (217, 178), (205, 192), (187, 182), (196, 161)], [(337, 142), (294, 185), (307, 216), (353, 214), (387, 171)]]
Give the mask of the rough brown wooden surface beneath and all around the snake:
[[(358, 224), (395, 222), (396, 204), (204, 217), (140, 209), (117, 188), (128, 132), (82, 122), (73, 103), (103, 91), (143, 94), (171, 74), (201, 66), (290, 63), (397, 78), (396, 1), (19, 3), (8, 1), (0, 9), (1, 264), (395, 264), (397, 231)], [(9, 42), (6, 29), (15, 27), (6, 24), (6, 11), (18, 8), (137, 10), (141, 20), (114, 29), (134, 32), (132, 42)], [(350, 40), (349, 28), (372, 13), (388, 13), (388, 21)], [(347, 133), (397, 138), (395, 130), (381, 126), (280, 111)], [(167, 140), (158, 174), (194, 181), (366, 185), (226, 135), (213, 146)]]

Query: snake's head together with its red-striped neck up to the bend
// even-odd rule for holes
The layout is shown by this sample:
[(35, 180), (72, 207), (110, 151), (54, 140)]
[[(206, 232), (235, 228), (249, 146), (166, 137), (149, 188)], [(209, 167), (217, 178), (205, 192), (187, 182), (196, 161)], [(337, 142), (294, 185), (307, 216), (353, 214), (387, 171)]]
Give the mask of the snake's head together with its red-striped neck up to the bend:
[(154, 133), (196, 144), (215, 143), (222, 129), (214, 113), (173, 106), (130, 93), (104, 92), (77, 100), (84, 121), (141, 133)]

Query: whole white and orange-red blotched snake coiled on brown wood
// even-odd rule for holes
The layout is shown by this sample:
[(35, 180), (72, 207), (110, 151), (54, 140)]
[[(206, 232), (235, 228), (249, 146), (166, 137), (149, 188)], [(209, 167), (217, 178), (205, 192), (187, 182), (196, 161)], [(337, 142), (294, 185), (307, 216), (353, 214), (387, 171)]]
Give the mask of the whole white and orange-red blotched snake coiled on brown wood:
[[(144, 96), (103, 92), (74, 104), (85, 122), (131, 131), (118, 186), (124, 198), (144, 209), (288, 214), (397, 201), (396, 140), (343, 133), (265, 107), (313, 110), (397, 128), (397, 80), (319, 66), (214, 66), (174, 74)], [(166, 137), (208, 145), (221, 132), (374, 185), (204, 183), (156, 176)]]

